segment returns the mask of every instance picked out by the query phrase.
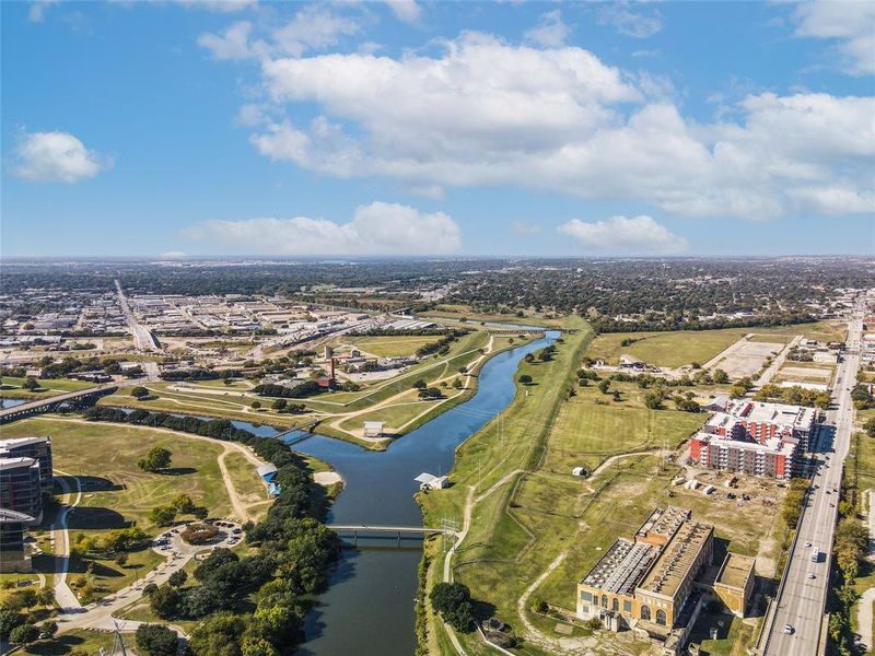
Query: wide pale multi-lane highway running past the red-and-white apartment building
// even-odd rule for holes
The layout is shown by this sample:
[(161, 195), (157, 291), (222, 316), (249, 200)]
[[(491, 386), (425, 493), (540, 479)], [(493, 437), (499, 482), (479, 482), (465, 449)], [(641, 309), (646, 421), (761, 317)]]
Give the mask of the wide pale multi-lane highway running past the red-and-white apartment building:
[[(796, 656), (817, 654), (824, 619), (832, 538), (838, 517), (841, 472), (851, 442), (854, 407), (850, 389), (856, 382), (863, 305), (859, 304), (848, 324), (847, 350), (838, 365), (832, 390), (833, 409), (819, 431), (815, 450), (818, 466), (800, 520), (798, 536), (779, 588), (774, 619), (768, 628), (763, 654)], [(813, 548), (819, 548), (813, 562)], [(810, 575), (814, 575), (812, 578)], [(767, 618), (768, 621), (768, 618)], [(791, 629), (785, 630), (790, 625)]]

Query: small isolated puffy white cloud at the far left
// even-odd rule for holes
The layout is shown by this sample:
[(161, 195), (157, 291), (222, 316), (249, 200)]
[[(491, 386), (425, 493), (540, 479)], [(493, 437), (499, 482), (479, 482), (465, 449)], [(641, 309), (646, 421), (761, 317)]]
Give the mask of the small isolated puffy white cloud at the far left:
[(34, 181), (77, 183), (112, 166), (69, 132), (25, 133), (15, 149), (14, 173)]

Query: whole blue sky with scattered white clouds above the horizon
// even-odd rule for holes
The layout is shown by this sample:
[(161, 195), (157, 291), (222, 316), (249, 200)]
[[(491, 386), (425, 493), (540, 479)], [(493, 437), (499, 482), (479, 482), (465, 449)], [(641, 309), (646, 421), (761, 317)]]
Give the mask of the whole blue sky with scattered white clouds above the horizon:
[(875, 253), (874, 3), (3, 2), (3, 256)]

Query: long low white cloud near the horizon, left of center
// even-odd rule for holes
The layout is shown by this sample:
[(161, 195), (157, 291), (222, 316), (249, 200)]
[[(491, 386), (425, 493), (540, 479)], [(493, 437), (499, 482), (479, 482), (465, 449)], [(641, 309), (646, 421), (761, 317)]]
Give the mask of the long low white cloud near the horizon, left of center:
[(347, 223), (308, 216), (206, 221), (182, 236), (253, 255), (448, 255), (462, 246), (447, 214), (386, 202), (355, 208)]

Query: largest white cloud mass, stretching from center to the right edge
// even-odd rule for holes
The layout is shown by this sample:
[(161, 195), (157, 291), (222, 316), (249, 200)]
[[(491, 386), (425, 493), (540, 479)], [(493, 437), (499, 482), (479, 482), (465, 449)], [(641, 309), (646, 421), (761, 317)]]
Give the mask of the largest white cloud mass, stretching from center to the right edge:
[[(681, 114), (658, 79), (582, 48), (514, 46), (479, 33), (431, 56), (265, 59), (261, 74), (268, 102), (287, 115), (252, 143), (276, 161), (338, 177), (518, 185), (754, 220), (798, 208), (791, 189), (798, 197), (873, 188), (873, 97), (761, 93), (734, 105), (734, 120), (701, 124)], [(299, 104), (319, 114), (296, 121)]]

